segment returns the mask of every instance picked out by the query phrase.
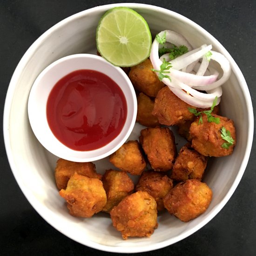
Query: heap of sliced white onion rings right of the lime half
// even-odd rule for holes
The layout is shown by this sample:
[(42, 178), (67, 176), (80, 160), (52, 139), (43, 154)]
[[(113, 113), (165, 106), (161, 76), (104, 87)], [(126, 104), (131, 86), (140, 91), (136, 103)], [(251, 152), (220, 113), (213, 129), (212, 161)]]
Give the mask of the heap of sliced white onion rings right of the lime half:
[[(167, 72), (162, 72), (168, 75), (170, 79), (163, 78), (162, 81), (176, 96), (189, 105), (197, 108), (210, 108), (216, 97), (218, 97), (217, 104), (219, 104), (222, 96), (221, 85), (229, 79), (231, 74), (229, 61), (222, 54), (212, 51), (211, 45), (202, 45), (192, 50), (189, 42), (182, 35), (174, 31), (165, 30), (160, 32), (159, 36), (163, 36), (165, 32), (167, 43), (170, 42), (177, 46), (185, 45), (188, 47), (189, 52), (177, 57), (175, 60), (170, 60), (168, 54), (164, 54), (159, 58), (159, 42), (156, 39), (153, 41), (150, 60), (154, 69), (161, 70), (164, 58), (165, 61), (172, 65), (171, 68), (166, 70)], [(219, 73), (215, 68), (209, 66), (209, 61), (205, 56), (209, 50), (212, 53), (211, 59), (217, 61), (223, 70), (223, 75), (219, 80), (217, 80)], [(200, 59), (202, 59), (201, 63), (199, 62)], [(194, 72), (195, 74), (192, 74)], [(198, 90), (206, 91), (206, 93)]]

